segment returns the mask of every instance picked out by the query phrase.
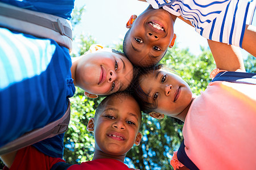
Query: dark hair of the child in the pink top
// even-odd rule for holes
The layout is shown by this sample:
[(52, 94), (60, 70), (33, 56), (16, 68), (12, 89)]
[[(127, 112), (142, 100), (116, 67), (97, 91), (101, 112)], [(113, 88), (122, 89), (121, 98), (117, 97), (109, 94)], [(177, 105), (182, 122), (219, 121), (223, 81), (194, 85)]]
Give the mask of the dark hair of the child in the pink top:
[[(148, 94), (142, 90), (141, 87), (141, 77), (143, 75), (146, 75), (148, 73), (152, 73), (152, 71), (158, 71), (163, 67), (162, 64), (158, 64), (155, 66), (147, 67), (147, 68), (139, 68), (139, 71), (137, 71), (137, 75), (134, 78), (133, 83), (131, 84), (132, 90), (131, 93), (135, 97), (135, 99), (138, 101), (139, 106), (141, 107), (141, 111), (148, 114), (152, 112), (154, 109), (158, 107), (158, 103), (149, 103), (148, 102)], [(184, 122), (179, 120), (178, 118), (174, 118), (175, 122), (177, 122), (180, 125), (183, 125)]]

